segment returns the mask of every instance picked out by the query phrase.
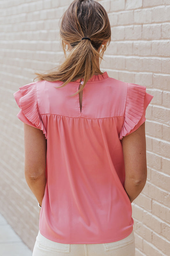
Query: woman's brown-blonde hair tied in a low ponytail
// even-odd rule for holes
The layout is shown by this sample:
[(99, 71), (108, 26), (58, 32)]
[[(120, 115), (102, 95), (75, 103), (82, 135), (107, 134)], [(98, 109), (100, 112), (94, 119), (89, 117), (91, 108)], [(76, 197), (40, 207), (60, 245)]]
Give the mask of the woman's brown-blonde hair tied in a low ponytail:
[[(89, 37), (91, 41), (81, 40), (83, 37)], [(94, 0), (75, 0), (62, 16), (60, 38), (65, 55), (64, 62), (56, 71), (34, 74), (37, 75), (38, 81), (63, 81), (60, 87), (84, 78), (83, 86), (72, 95), (74, 96), (83, 90), (86, 82), (95, 72), (103, 74), (97, 67), (96, 59), (100, 58), (101, 63), (104, 52), (100, 54), (98, 49), (103, 41), (107, 41), (109, 45), (111, 40), (110, 22), (106, 10)], [(68, 56), (66, 56), (65, 43), (71, 45)]]

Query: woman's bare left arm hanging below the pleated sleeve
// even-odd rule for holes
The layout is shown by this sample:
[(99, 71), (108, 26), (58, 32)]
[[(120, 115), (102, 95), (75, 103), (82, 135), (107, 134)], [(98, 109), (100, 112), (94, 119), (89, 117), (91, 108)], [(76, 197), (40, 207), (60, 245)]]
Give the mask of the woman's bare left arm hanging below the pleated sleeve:
[(47, 140), (43, 132), (24, 123), (25, 178), (40, 205), (46, 186)]

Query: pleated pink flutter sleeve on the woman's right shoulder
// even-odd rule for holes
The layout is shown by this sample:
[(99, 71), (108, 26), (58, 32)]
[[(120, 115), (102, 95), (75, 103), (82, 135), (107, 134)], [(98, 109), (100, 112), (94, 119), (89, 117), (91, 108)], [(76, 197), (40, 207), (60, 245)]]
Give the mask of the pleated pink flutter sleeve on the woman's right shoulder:
[(124, 124), (119, 139), (136, 131), (146, 120), (146, 108), (153, 96), (146, 93), (146, 87), (128, 83), (127, 99), (124, 111)]

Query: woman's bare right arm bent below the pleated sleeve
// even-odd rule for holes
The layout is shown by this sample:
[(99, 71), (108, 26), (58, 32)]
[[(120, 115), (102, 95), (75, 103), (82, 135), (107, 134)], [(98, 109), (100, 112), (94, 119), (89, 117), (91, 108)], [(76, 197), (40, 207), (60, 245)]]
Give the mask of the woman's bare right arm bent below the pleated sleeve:
[(143, 190), (147, 179), (145, 122), (122, 138), (125, 164), (124, 189), (132, 202)]

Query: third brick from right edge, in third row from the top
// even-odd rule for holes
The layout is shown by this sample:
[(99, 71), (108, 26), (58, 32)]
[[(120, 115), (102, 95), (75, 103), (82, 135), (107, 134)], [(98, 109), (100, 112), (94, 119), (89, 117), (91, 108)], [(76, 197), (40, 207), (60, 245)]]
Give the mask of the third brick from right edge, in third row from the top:
[(142, 38), (142, 25), (125, 26), (125, 39), (141, 39)]

